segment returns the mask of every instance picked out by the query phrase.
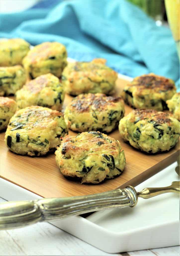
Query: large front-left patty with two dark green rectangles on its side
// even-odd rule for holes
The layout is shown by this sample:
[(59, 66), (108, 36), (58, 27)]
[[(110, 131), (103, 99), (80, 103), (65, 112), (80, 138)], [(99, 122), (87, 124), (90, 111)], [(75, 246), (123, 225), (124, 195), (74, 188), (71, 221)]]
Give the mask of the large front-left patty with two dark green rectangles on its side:
[(60, 145), (62, 136), (67, 133), (61, 112), (30, 106), (18, 110), (10, 119), (5, 141), (14, 153), (40, 156)]

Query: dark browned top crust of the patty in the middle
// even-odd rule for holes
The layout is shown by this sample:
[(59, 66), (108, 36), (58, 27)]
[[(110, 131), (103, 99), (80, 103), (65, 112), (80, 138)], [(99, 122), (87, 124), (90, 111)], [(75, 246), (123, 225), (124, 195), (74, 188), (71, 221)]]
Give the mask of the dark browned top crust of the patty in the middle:
[(122, 101), (121, 97), (106, 96), (103, 93), (88, 93), (80, 94), (72, 100), (70, 105), (71, 109), (75, 109), (78, 112), (88, 112), (89, 108), (93, 109), (105, 109), (107, 106), (114, 105), (113, 103)]

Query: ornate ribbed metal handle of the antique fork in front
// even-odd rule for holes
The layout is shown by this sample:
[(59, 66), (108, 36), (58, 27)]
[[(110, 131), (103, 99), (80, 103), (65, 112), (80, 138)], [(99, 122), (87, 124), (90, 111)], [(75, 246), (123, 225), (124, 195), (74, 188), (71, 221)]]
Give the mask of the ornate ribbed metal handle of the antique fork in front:
[(136, 190), (127, 186), (104, 193), (35, 201), (5, 202), (0, 205), (0, 229), (27, 226), (39, 221), (56, 220), (86, 212), (137, 204)]

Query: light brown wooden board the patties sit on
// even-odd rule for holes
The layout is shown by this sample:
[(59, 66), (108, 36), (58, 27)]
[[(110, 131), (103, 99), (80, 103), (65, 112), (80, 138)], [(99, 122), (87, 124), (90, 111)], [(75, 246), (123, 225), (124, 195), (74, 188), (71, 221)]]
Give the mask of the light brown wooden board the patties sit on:
[[(118, 79), (114, 95), (119, 95), (127, 80)], [(63, 109), (72, 97), (66, 95)], [(125, 106), (125, 115), (132, 109)], [(70, 135), (76, 133), (69, 131)], [(9, 151), (4, 143), (5, 133), (0, 134), (0, 175), (2, 178), (28, 189), (42, 197), (66, 197), (100, 193), (127, 185), (136, 186), (153, 174), (159, 172), (177, 159), (179, 143), (168, 153), (149, 155), (142, 153), (124, 143), (116, 130), (109, 136), (119, 140), (124, 149), (126, 166), (123, 173), (112, 180), (96, 185), (81, 185), (80, 182), (68, 180), (60, 173), (55, 162), (55, 155), (42, 157), (21, 156)], [(170, 180), (171, 183), (171, 180)]]

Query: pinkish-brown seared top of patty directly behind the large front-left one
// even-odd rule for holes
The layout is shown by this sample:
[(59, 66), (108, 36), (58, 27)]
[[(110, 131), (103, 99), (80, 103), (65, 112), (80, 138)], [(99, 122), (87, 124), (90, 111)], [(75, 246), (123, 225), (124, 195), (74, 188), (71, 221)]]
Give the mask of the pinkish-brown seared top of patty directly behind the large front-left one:
[(31, 80), (25, 84), (25, 87), (31, 93), (38, 93), (42, 90), (42, 88), (46, 87), (48, 84), (48, 79), (46, 76), (40, 76), (36, 79)]

